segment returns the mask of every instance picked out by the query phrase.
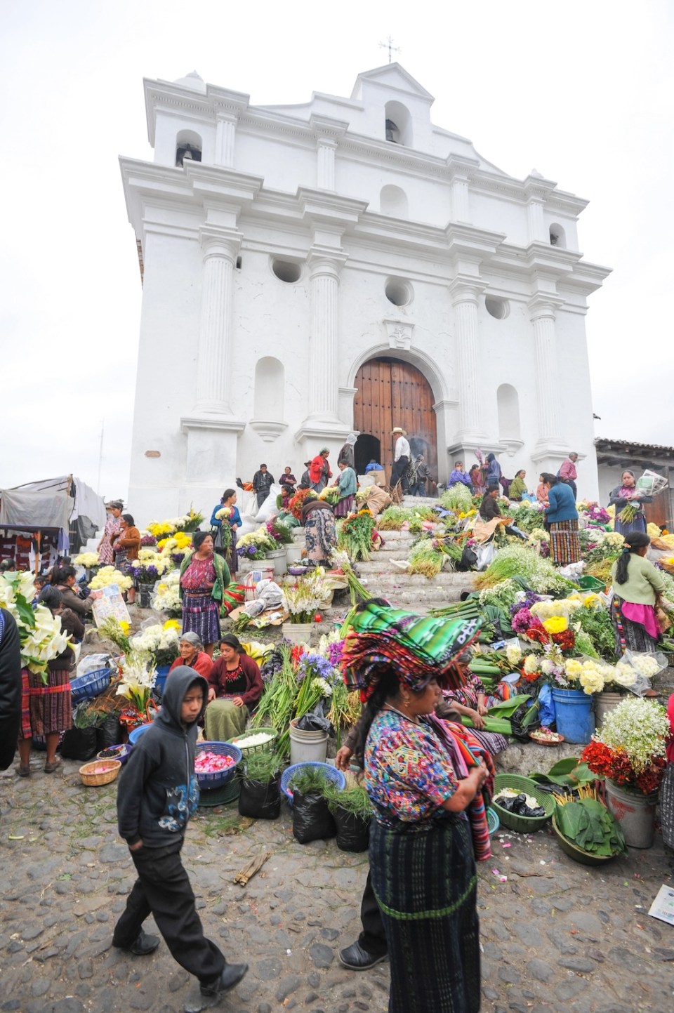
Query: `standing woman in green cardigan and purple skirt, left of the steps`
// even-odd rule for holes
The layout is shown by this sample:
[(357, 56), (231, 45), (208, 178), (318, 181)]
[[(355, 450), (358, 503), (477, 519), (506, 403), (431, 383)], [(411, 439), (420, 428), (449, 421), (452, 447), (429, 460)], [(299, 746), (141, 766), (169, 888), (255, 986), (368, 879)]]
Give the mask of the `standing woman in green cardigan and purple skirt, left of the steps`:
[(220, 603), (230, 582), (229, 567), (213, 551), (210, 532), (196, 531), (192, 544), (194, 551), (180, 564), (182, 632), (197, 633), (204, 650), (213, 657), (213, 648), (220, 639)]

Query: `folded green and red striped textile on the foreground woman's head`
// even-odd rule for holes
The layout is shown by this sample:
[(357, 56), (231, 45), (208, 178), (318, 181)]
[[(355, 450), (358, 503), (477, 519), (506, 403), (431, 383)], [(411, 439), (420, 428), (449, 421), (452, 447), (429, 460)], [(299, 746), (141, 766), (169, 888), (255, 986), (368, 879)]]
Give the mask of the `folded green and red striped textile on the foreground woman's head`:
[(478, 626), (479, 619), (449, 622), (370, 602), (354, 616), (345, 640), (344, 681), (350, 690), (360, 689), (363, 702), (390, 668), (415, 690), (431, 679), (443, 689), (456, 689), (464, 680), (453, 658), (474, 638)]

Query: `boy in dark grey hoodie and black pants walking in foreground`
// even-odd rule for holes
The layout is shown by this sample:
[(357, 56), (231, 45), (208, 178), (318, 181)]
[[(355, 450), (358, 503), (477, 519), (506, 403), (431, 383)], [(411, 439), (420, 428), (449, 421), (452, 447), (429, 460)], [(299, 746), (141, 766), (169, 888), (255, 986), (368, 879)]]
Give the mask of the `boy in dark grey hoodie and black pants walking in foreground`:
[(207, 703), (206, 680), (186, 666), (174, 669), (161, 710), (134, 746), (120, 778), (118, 825), (138, 879), (115, 927), (113, 945), (138, 956), (152, 953), (159, 939), (142, 928), (152, 914), (173, 958), (199, 979), (205, 1005), (212, 1005), (241, 981), (248, 965), (227, 963), (204, 936), (180, 860), (188, 821), (199, 803), (195, 744)]

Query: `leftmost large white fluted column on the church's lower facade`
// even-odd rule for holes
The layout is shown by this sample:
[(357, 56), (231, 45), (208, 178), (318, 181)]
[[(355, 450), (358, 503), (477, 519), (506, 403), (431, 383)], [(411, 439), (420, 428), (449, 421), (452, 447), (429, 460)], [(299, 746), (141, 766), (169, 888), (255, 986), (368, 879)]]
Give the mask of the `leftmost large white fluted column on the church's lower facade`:
[(238, 236), (202, 234), (204, 278), (196, 410), (231, 414), (232, 287)]

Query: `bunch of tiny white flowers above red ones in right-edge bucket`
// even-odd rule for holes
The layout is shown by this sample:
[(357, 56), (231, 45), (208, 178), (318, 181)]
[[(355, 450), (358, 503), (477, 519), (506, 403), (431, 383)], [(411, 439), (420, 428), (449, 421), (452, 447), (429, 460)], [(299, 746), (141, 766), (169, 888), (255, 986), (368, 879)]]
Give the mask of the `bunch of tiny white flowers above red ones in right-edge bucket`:
[(664, 757), (671, 734), (667, 711), (662, 704), (629, 696), (608, 712), (597, 738), (612, 750), (623, 750), (640, 774), (654, 757)]

